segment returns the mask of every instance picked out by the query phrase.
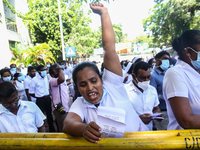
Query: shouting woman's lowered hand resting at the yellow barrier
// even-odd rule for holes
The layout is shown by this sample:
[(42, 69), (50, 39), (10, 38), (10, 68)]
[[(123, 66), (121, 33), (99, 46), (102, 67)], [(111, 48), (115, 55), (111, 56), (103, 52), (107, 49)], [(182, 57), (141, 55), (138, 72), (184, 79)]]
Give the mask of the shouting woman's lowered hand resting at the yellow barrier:
[(101, 128), (92, 121), (84, 128), (83, 137), (89, 142), (97, 143), (102, 137), (99, 131), (101, 131)]

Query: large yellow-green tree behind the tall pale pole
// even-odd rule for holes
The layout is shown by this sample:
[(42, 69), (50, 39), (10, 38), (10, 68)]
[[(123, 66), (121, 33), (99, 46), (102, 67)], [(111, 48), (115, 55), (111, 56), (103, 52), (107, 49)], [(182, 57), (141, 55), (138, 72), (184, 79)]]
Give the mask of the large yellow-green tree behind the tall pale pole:
[[(91, 54), (96, 43), (89, 27), (91, 20), (84, 14), (77, 1), (66, 3), (61, 0), (61, 14), (65, 46), (75, 46), (79, 56)], [(91, 12), (91, 11), (90, 11)], [(47, 43), (50, 51), (59, 61), (62, 59), (60, 24), (57, 0), (33, 0), (29, 3), (26, 25), (32, 42)]]

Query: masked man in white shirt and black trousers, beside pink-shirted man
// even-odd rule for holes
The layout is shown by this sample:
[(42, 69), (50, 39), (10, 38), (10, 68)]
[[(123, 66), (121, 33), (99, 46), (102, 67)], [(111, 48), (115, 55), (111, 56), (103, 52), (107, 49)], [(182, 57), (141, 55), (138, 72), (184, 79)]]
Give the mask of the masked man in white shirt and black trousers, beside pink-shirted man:
[(43, 65), (36, 67), (37, 74), (31, 80), (29, 87), (29, 95), (36, 98), (36, 104), (47, 115), (47, 122), (49, 125), (49, 131), (55, 132), (53, 126), (53, 117), (51, 109), (51, 98), (49, 96), (49, 82), (47, 79), (47, 71)]

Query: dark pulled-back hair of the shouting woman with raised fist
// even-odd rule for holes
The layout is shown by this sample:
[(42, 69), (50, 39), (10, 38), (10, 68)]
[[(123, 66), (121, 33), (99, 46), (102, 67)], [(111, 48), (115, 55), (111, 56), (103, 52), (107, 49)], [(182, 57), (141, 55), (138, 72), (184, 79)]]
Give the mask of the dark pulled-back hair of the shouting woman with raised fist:
[(72, 78), (73, 78), (73, 81), (74, 81), (74, 90), (75, 90), (75, 99), (78, 97), (78, 96), (81, 96), (80, 92), (78, 91), (78, 86), (77, 86), (77, 79), (76, 79), (76, 75), (79, 71), (85, 69), (85, 68), (91, 68), (92, 70), (94, 70), (99, 78), (101, 78), (101, 75), (100, 75), (100, 72), (99, 72), (99, 69), (97, 68), (97, 66), (92, 63), (92, 62), (82, 62), (82, 63), (79, 63), (77, 66), (75, 66), (73, 72), (72, 72)]

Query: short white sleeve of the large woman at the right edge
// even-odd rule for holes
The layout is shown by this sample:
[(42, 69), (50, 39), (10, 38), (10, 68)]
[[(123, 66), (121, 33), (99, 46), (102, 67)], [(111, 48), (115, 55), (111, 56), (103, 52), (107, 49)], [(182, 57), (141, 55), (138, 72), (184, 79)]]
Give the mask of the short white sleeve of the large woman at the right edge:
[(183, 72), (178, 67), (173, 67), (166, 72), (163, 80), (165, 99), (172, 97), (188, 97), (188, 87), (181, 73)]

